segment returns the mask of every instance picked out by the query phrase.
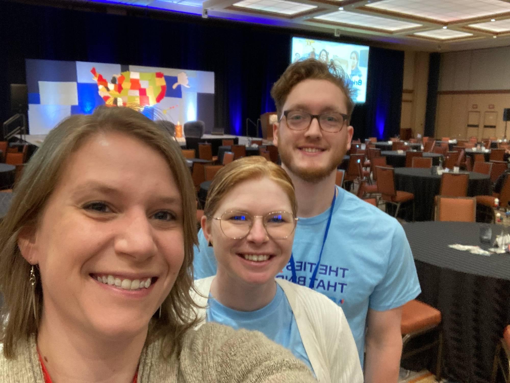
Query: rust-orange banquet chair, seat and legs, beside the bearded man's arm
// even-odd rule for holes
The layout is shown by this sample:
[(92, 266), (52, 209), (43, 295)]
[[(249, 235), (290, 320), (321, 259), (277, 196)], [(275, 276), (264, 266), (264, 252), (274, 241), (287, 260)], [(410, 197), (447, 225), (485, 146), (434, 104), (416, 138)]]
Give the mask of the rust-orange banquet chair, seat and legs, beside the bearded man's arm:
[[(441, 381), (441, 362), (443, 353), (443, 334), (441, 331), (441, 312), (426, 303), (413, 299), (402, 306), (400, 332), (402, 334), (401, 360), (411, 358), (416, 354), (437, 346), (436, 381)], [(430, 338), (428, 333), (436, 335)], [(420, 343), (416, 348), (411, 347), (414, 338), (427, 334), (426, 343)], [(423, 339), (425, 341), (425, 339)]]

